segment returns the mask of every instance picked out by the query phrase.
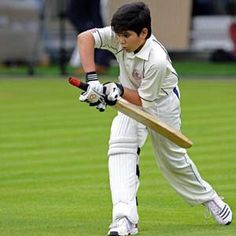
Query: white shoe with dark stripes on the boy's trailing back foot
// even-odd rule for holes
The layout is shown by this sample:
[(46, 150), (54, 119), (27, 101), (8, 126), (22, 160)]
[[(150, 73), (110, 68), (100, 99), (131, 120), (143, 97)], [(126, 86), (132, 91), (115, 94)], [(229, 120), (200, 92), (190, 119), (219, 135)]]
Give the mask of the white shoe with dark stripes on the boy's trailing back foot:
[(228, 204), (226, 204), (219, 196), (211, 201), (205, 202), (204, 205), (208, 208), (218, 224), (229, 225), (231, 223), (233, 213)]

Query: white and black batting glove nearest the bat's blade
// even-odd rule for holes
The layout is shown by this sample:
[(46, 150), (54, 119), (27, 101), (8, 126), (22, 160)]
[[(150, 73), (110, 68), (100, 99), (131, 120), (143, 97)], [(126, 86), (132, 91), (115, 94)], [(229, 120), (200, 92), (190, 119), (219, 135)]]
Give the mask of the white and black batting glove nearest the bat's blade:
[(124, 88), (121, 84), (108, 82), (103, 84), (106, 103), (110, 106), (115, 105), (119, 97), (124, 94)]

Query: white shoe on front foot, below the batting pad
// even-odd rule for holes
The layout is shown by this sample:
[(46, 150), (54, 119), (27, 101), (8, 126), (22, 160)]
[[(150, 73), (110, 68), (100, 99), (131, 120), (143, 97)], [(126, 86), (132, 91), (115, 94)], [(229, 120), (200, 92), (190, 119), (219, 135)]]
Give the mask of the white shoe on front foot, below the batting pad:
[(113, 222), (108, 231), (109, 236), (127, 236), (138, 233), (138, 226), (131, 223), (126, 217)]

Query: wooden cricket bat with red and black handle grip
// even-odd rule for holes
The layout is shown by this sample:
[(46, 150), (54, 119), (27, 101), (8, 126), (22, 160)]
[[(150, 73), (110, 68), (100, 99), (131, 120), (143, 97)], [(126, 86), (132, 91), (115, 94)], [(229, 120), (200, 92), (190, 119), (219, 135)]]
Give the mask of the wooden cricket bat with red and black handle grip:
[[(88, 84), (83, 83), (75, 77), (69, 77), (69, 83), (82, 90), (87, 90), (88, 87)], [(180, 147), (190, 148), (193, 144), (192, 141), (188, 139), (185, 135), (183, 135), (181, 132), (173, 129), (172, 127), (158, 120), (156, 117), (143, 111), (141, 108), (138, 108), (137, 106), (131, 104), (123, 98), (119, 98), (114, 107), (118, 111), (124, 113), (125, 115), (133, 118), (134, 120), (142, 123), (146, 127), (161, 134), (162, 136), (169, 139)]]

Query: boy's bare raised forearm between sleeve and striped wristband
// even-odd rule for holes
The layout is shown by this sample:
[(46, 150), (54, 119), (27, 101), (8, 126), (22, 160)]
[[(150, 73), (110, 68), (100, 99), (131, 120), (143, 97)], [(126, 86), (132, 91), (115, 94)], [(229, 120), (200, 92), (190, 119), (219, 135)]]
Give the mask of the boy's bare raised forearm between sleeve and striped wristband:
[(96, 71), (94, 62), (95, 41), (90, 31), (78, 35), (77, 45), (80, 53), (81, 65), (85, 73)]

